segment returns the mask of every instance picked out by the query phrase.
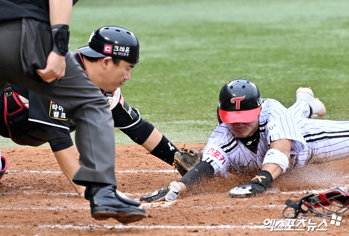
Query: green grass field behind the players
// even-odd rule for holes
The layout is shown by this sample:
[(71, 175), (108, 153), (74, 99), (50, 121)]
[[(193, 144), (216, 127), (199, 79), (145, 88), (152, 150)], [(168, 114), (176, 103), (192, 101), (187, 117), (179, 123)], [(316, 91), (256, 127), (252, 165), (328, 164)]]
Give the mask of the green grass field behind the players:
[[(84, 0), (73, 8), (69, 48), (104, 25), (134, 32), (141, 58), (121, 88), (125, 100), (172, 142), (204, 143), (218, 93), (236, 78), (285, 106), (310, 86), (324, 119), (349, 120), (348, 9), (347, 0)], [(116, 143), (133, 142), (116, 131)]]

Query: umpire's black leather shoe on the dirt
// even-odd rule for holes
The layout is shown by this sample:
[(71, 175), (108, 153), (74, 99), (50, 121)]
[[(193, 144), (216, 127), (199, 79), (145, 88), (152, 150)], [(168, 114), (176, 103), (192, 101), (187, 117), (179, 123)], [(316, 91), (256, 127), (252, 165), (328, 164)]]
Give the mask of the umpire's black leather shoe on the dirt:
[(86, 187), (85, 198), (90, 201), (91, 215), (96, 220), (114, 218), (127, 224), (146, 217), (141, 203), (116, 190), (114, 185), (90, 184)]

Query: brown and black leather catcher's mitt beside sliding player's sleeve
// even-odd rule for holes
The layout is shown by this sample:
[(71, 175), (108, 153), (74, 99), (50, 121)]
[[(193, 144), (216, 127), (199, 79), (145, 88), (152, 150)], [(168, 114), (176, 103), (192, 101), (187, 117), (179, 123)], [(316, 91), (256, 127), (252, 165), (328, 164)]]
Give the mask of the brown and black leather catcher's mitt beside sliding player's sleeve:
[(173, 167), (177, 169), (181, 176), (190, 171), (202, 160), (202, 152), (194, 149), (181, 148), (174, 154)]

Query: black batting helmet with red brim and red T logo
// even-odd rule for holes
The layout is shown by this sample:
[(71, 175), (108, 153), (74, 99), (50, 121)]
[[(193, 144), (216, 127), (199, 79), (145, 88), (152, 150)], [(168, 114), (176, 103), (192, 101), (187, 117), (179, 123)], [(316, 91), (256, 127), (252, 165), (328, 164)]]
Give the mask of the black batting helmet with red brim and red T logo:
[(227, 124), (250, 123), (257, 118), (261, 104), (261, 95), (254, 83), (232, 80), (224, 84), (219, 94), (217, 118)]

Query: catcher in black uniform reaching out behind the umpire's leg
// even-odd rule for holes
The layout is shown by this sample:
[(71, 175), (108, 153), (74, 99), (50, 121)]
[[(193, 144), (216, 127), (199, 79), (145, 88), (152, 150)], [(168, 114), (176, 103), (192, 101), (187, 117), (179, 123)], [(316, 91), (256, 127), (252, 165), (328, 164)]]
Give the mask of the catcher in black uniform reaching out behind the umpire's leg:
[[(113, 53), (105, 51), (115, 42), (118, 45), (113, 46)], [(139, 41), (131, 31), (109, 25), (93, 31), (88, 45), (69, 53), (74, 60), (71, 64), (84, 71), (82, 73), (86, 72), (109, 101), (113, 127), (172, 166), (174, 154), (179, 149), (153, 124), (143, 119), (138, 109), (131, 107), (121, 94), (120, 87), (131, 78), (131, 71), (139, 62), (139, 50)], [(106, 65), (109, 66), (108, 70), (105, 69)], [(112, 80), (105, 79), (111, 77)], [(70, 137), (76, 124), (68, 119), (65, 108), (16, 84), (7, 86), (0, 95), (0, 135), (20, 145), (39, 146), (49, 142), (62, 171), (80, 197), (84, 198), (85, 187), (72, 181), (79, 169)], [(187, 162), (187, 158), (181, 161), (180, 157), (177, 160), (178, 170), (184, 175), (187, 168), (183, 169), (182, 165), (190, 167), (192, 162)]]

